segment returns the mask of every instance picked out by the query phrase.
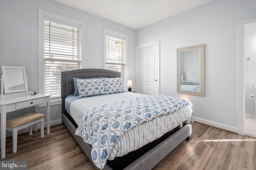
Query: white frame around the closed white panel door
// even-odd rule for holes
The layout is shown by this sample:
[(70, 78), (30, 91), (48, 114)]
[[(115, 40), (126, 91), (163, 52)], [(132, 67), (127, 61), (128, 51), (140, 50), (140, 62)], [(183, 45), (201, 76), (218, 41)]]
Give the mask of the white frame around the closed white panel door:
[(158, 57), (158, 63), (157, 65), (157, 76), (158, 76), (158, 81), (157, 81), (157, 93), (160, 94), (160, 41), (157, 42), (152, 42), (152, 43), (146, 43), (143, 45), (138, 45), (136, 46), (136, 91), (138, 91), (138, 93), (140, 93), (140, 49), (142, 48), (146, 48), (146, 47), (152, 47), (152, 46), (156, 46), (157, 47), (157, 57)]

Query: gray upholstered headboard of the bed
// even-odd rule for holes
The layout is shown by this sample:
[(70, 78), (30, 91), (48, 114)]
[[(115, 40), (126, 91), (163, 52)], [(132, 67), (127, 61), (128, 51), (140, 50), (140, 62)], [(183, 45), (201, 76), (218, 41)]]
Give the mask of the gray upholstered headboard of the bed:
[(78, 69), (72, 71), (62, 71), (61, 73), (61, 98), (62, 98), (62, 113), (65, 112), (65, 98), (68, 95), (74, 94), (73, 77), (80, 79), (98, 78), (98, 77), (121, 77), (120, 72), (106, 69)]

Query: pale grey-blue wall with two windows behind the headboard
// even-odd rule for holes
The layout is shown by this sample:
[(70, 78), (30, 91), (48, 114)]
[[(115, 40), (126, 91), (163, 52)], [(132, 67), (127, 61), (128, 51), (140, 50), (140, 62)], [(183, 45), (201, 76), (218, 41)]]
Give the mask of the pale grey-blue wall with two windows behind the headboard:
[[(29, 90), (38, 92), (38, 8), (85, 22), (86, 68), (103, 68), (103, 28), (127, 34), (127, 78), (135, 81), (135, 30), (52, 0), (0, 0), (0, 67), (25, 67)], [(16, 111), (7, 117), (33, 110)], [(39, 109), (45, 111), (45, 107)], [(51, 106), (50, 111), (51, 125), (61, 122), (61, 105)]]

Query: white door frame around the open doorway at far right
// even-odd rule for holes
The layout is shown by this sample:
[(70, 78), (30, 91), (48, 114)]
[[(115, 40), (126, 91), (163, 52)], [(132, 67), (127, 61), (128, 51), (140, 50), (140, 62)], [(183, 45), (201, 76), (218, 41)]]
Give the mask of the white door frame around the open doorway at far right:
[(245, 134), (245, 26), (256, 23), (256, 18), (238, 22), (238, 85), (237, 133)]

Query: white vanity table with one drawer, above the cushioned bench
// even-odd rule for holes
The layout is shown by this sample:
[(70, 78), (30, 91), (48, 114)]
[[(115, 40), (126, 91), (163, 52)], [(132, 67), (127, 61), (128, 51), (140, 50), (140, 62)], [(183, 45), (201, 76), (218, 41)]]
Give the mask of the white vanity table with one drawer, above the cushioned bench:
[(0, 99), (0, 113), (1, 113), (1, 158), (5, 158), (6, 150), (6, 114), (24, 109), (27, 107), (36, 107), (36, 113), (39, 104), (47, 105), (47, 134), (50, 134), (50, 95), (36, 94), (36, 95), (22, 95), (18, 97), (10, 97)]

